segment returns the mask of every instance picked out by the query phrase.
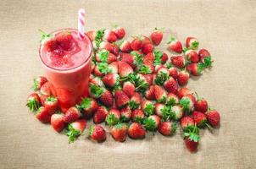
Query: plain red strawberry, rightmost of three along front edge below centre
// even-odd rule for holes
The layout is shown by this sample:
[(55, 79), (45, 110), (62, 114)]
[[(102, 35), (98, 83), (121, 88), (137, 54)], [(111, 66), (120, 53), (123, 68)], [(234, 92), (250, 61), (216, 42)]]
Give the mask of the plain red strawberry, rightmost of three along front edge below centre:
[(146, 131), (140, 123), (131, 123), (128, 129), (128, 135), (131, 139), (144, 139)]

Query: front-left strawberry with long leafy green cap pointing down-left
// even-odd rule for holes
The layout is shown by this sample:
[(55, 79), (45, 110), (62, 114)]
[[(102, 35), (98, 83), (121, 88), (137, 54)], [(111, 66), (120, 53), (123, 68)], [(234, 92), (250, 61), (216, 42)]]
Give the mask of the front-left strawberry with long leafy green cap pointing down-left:
[(74, 142), (75, 139), (83, 133), (85, 128), (86, 128), (85, 119), (79, 119), (73, 123), (70, 123), (69, 127), (65, 131), (65, 134), (69, 136), (69, 142), (70, 143)]

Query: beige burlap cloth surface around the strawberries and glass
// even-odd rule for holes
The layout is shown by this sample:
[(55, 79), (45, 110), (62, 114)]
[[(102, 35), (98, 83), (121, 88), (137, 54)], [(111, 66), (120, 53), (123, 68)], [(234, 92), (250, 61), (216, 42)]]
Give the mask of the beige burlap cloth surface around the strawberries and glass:
[[(165, 28), (182, 41), (198, 37), (214, 68), (189, 87), (221, 113), (214, 134), (201, 132), (197, 154), (180, 133), (120, 144), (93, 144), (85, 136), (68, 144), (25, 107), (31, 80), (42, 74), (38, 29), (76, 27), (86, 8), (86, 29), (125, 26), (128, 35)], [(256, 1), (0, 1), (0, 168), (255, 168)], [(163, 46), (164, 49), (165, 46)]]

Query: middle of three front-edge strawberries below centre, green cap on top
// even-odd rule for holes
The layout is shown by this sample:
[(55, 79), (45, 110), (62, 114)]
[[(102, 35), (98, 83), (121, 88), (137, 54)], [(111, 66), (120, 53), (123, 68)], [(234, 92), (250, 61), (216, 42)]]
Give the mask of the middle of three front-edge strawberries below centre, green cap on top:
[(126, 139), (128, 127), (125, 123), (119, 123), (111, 128), (110, 134), (115, 141), (124, 142)]

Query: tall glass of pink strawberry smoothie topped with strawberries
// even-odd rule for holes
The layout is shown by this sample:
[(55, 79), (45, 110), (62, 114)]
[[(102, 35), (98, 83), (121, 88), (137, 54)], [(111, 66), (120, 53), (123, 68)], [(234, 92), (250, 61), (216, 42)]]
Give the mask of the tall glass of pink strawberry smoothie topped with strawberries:
[(52, 94), (66, 112), (88, 95), (92, 42), (86, 35), (81, 40), (75, 29), (57, 30), (42, 41), (39, 53), (45, 75), (52, 84)]

